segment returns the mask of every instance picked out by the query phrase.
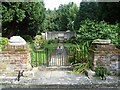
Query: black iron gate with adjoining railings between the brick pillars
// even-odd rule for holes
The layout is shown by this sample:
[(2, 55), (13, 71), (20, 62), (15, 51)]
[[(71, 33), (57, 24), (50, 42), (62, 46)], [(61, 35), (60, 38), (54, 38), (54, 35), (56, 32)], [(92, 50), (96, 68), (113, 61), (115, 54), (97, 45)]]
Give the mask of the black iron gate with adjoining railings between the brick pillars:
[(72, 51), (64, 45), (50, 46), (43, 50), (34, 51), (32, 54), (32, 66), (67, 66), (69, 65), (69, 54)]

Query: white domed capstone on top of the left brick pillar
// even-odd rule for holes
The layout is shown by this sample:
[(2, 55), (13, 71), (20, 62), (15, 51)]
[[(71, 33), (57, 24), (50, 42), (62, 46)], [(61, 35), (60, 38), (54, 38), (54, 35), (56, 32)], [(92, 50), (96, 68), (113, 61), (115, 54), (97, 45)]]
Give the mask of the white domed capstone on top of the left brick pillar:
[(20, 36), (12, 36), (8, 44), (9, 45), (25, 45), (26, 41)]

